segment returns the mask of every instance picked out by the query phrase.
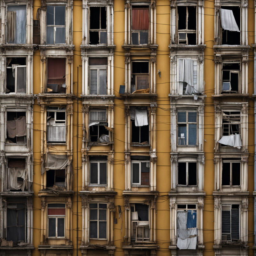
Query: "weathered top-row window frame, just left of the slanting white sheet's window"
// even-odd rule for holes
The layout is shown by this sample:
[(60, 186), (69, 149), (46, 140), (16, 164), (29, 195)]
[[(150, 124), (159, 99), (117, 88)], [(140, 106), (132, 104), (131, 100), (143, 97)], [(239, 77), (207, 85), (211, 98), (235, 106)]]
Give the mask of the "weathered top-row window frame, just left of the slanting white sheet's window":
[[(179, 13), (178, 13), (178, 7), (186, 7), (186, 29), (179, 29)], [(195, 29), (188, 29), (188, 7), (195, 6), (196, 7), (196, 30)], [(193, 45), (193, 44), (188, 44), (188, 34), (196, 34), (196, 44), (197, 44), (197, 20), (198, 20), (198, 5), (177, 5), (176, 8), (176, 24), (177, 24), (177, 44), (182, 44), (182, 45)], [(181, 33), (186, 33), (186, 43), (180, 43), (180, 32)], [(181, 40), (185, 41), (185, 40)], [(196, 45), (195, 44), (195, 45)]]

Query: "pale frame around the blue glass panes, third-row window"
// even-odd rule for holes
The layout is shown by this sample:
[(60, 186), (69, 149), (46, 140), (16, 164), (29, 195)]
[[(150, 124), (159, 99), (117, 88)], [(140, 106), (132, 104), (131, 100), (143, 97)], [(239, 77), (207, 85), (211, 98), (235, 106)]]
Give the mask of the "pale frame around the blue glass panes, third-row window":
[[(178, 112), (186, 112), (186, 122), (178, 122)], [(194, 112), (196, 113), (196, 122), (188, 122), (188, 112)], [(176, 122), (177, 122), (177, 131), (179, 131), (179, 124), (186, 124), (186, 132), (187, 132), (187, 137), (186, 137), (186, 144), (182, 145), (182, 144), (179, 144), (179, 139), (182, 139), (182, 138), (179, 138), (179, 132), (177, 132), (177, 146), (185, 146), (185, 147), (195, 147), (195, 146), (198, 146), (198, 110), (197, 109), (191, 109), (191, 110), (188, 110), (188, 109), (177, 109), (177, 116), (176, 116)], [(196, 144), (195, 145), (190, 145), (188, 144), (188, 125), (189, 124), (196, 124)]]

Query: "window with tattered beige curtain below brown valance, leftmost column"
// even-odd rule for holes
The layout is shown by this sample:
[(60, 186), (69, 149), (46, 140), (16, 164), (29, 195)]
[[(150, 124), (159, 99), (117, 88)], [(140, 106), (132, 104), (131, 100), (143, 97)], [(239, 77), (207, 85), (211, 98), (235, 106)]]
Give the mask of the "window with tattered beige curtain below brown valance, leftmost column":
[(27, 172), (25, 158), (8, 158), (7, 188), (11, 191), (24, 191), (27, 188)]

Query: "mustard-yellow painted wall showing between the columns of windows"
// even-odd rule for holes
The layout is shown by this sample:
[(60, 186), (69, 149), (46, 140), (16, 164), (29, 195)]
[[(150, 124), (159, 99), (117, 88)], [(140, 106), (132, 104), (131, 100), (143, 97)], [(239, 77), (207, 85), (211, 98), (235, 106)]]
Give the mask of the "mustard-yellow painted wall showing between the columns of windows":
[[(34, 19), (36, 19), (36, 10), (41, 5), (40, 0), (34, 0)], [(254, 20), (254, 2), (248, 1), (248, 20)], [(156, 219), (156, 237), (159, 249), (157, 255), (170, 255), (168, 245), (170, 244), (170, 206), (168, 192), (171, 188), (171, 166), (170, 166), (170, 1), (157, 0), (156, 3), (156, 43), (157, 57), (156, 70), (161, 71), (161, 77), (156, 76), (157, 89), (157, 171), (156, 186), (159, 191), (157, 197), (157, 219)], [(254, 43), (254, 22), (248, 22), (248, 43)], [(79, 97), (77, 106), (76, 99), (73, 104), (73, 169), (74, 182), (72, 197), (72, 240), (73, 255), (76, 255), (76, 239), (77, 239), (77, 217), (78, 217), (78, 247), (81, 245), (82, 239), (82, 208), (81, 197), (76, 196), (77, 192), (82, 190), (82, 65), (80, 44), (82, 41), (82, 1), (74, 0), (73, 2), (73, 44), (74, 63), (73, 63), (73, 93)], [(213, 49), (214, 44), (214, 1), (204, 1), (204, 41), (206, 48), (204, 51), (204, 81), (205, 81), (205, 107), (204, 107), (204, 255), (214, 255), (212, 245), (214, 244), (214, 164), (213, 164), (213, 148), (214, 148), (214, 106), (212, 94), (214, 94), (214, 61)], [(116, 45), (114, 53), (114, 93), (119, 97), (119, 85), (124, 84), (124, 0), (114, 0), (114, 44)], [(253, 93), (253, 49), (250, 49), (250, 63), (248, 68), (248, 88), (250, 96)], [(77, 69), (78, 67), (78, 69)], [(33, 57), (33, 92), (40, 92), (40, 51), (37, 50)], [(78, 94), (77, 94), (77, 70), (78, 70)], [(116, 246), (115, 255), (124, 255), (122, 250), (122, 241), (124, 237), (124, 196), (125, 189), (125, 171), (124, 171), (124, 104), (123, 100), (114, 100), (114, 190), (117, 192), (115, 196), (115, 206), (121, 205), (123, 214), (118, 219), (118, 212), (115, 213), (117, 224), (114, 224), (114, 245)], [(78, 111), (78, 120), (77, 120)], [(33, 256), (40, 255), (37, 249), (40, 244), (41, 235), (41, 199), (38, 197), (38, 191), (41, 187), (41, 119), (40, 106), (37, 100), (34, 104), (33, 119), (33, 150), (34, 150), (34, 230), (33, 244), (35, 250)], [(77, 150), (77, 125), (78, 125), (78, 150)], [(253, 100), (249, 101), (249, 131), (248, 131), (248, 150), (249, 150), (249, 166), (248, 166), (248, 190), (249, 212), (248, 212), (248, 245), (250, 246), (249, 255), (253, 254), (253, 154), (254, 154), (254, 116), (253, 116)], [(77, 162), (78, 154), (78, 162)], [(78, 175), (78, 177), (77, 177)], [(77, 185), (78, 180), (78, 185)], [(78, 202), (77, 202), (78, 198)], [(78, 203), (78, 212), (77, 212)], [(117, 210), (117, 208), (116, 208)], [(78, 255), (81, 252), (78, 251)]]

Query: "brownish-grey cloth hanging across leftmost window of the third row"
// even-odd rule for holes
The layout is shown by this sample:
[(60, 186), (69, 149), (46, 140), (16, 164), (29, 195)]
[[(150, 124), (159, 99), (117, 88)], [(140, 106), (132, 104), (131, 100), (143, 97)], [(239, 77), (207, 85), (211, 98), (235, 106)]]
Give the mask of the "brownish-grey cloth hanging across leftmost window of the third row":
[(6, 128), (7, 128), (9, 138), (14, 138), (15, 136), (17, 137), (26, 136), (27, 135), (26, 116), (20, 116), (19, 118), (15, 118), (12, 121), (7, 121)]

